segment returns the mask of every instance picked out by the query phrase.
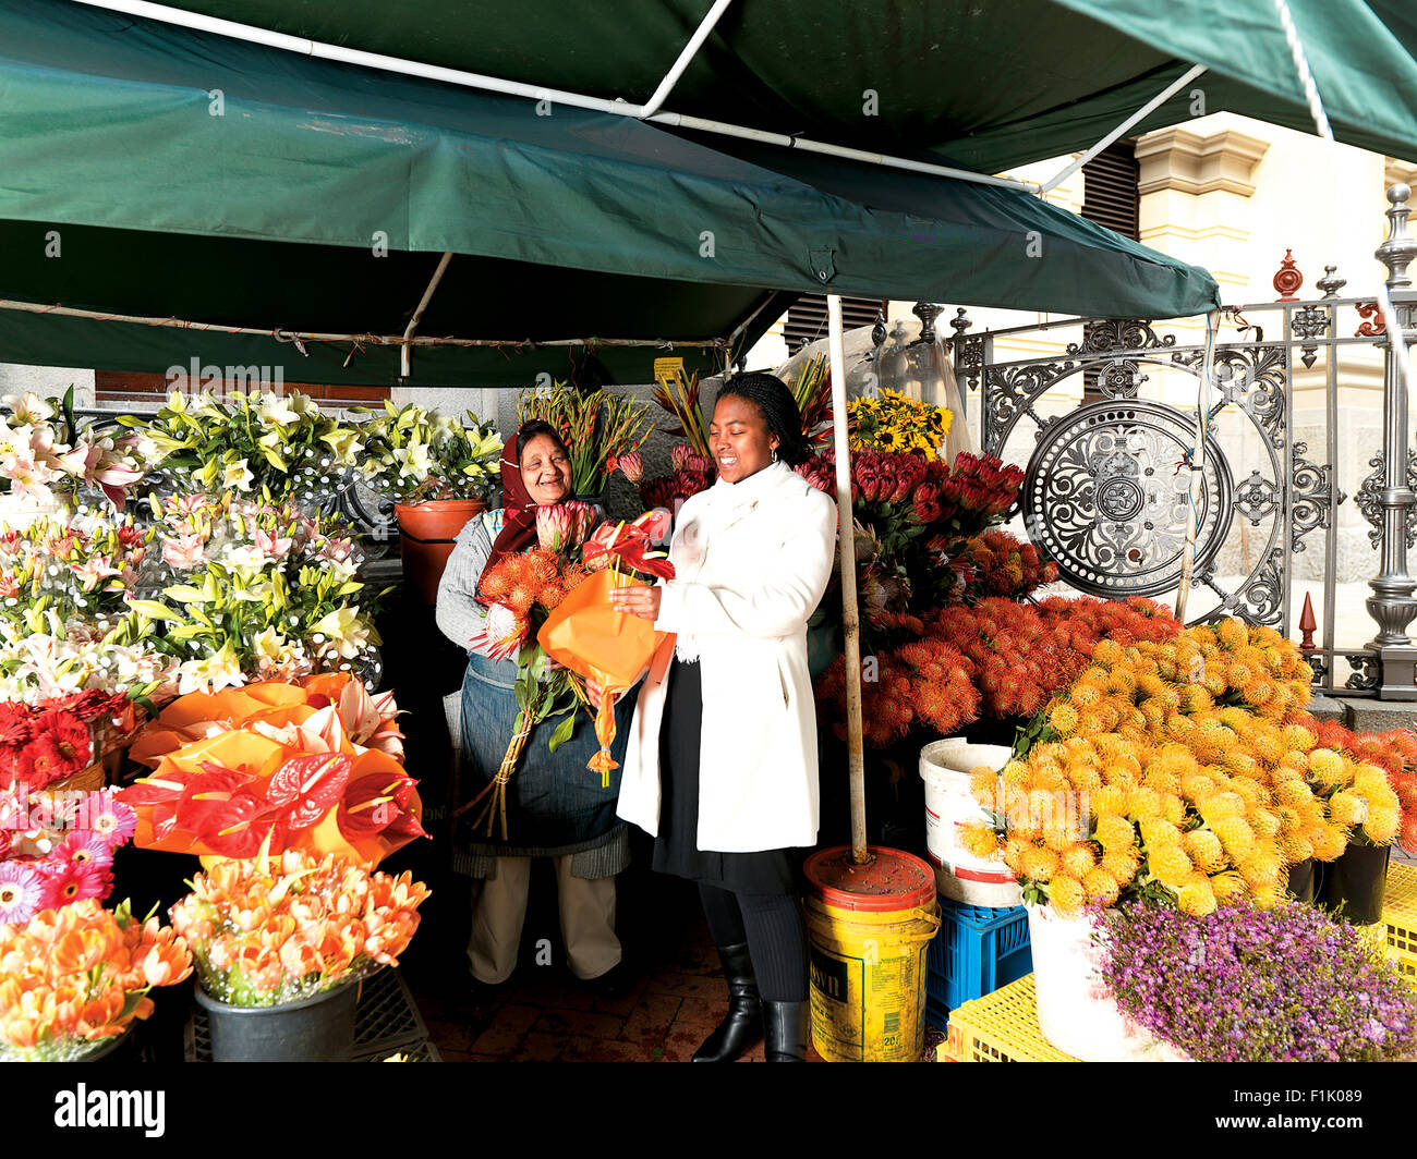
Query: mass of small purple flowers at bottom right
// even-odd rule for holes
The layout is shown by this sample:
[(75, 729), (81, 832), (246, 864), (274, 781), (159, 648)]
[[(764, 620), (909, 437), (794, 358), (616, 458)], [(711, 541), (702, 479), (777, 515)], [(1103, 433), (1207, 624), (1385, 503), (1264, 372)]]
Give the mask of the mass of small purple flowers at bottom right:
[(1312, 905), (1196, 918), (1127, 903), (1108, 917), (1102, 972), (1117, 1005), (1197, 1063), (1390, 1061), (1417, 1050), (1406, 979)]

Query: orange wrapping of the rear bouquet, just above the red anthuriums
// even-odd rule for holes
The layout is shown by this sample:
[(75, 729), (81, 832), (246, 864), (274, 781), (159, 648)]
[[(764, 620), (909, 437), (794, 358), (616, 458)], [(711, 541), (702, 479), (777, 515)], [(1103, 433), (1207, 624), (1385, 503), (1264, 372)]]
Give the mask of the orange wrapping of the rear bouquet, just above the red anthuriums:
[[(303, 724), (326, 703), (336, 706), (346, 728), (356, 727), (354, 717), (361, 716), (361, 710), (364, 717), (371, 710), (377, 716), (377, 708), (385, 699), (371, 700), (363, 693), (363, 687), (354, 687), (356, 679), (350, 673), (334, 672), (303, 676), (296, 682), (262, 680), (218, 693), (180, 696), (156, 720), (143, 725), (128, 755), (140, 765), (157, 768), (169, 752), (217, 731), (256, 721), (265, 721), (272, 728)], [(402, 734), (394, 727), (393, 717), (377, 727), (367, 718), (363, 723), (373, 731), (364, 741), (366, 747), (378, 748), (395, 758), (402, 757)]]

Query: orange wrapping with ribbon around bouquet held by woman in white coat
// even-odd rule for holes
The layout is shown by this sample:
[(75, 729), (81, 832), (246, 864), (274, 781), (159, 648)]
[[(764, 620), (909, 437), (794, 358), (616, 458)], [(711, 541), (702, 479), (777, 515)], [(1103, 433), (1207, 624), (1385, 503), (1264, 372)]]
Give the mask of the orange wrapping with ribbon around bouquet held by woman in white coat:
[(595, 714), (601, 751), (587, 765), (601, 774), (602, 782), (616, 767), (609, 752), (615, 740), (615, 696), (633, 684), (646, 665), (663, 662), (674, 646), (672, 632), (656, 632), (648, 619), (611, 606), (611, 588), (635, 582), (614, 568), (597, 571), (551, 611), (537, 632), (537, 643), (553, 660), (602, 689)]

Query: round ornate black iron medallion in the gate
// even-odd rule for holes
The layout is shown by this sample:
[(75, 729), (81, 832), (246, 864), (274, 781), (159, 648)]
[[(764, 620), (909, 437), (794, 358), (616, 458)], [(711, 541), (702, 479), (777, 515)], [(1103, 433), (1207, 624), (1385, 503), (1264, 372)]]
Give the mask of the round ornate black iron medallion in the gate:
[[(1040, 434), (1023, 483), (1029, 537), (1061, 578), (1104, 597), (1158, 595), (1180, 580), (1195, 418), (1162, 402), (1094, 402)], [(1206, 443), (1196, 574), (1230, 530), (1234, 483)]]

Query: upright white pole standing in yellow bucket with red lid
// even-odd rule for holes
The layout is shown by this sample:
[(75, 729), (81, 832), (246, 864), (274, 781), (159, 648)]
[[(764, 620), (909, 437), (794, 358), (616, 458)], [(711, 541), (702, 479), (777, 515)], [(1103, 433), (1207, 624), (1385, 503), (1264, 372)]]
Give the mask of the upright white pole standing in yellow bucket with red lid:
[(846, 737), (852, 776), (852, 861), (864, 866), (866, 750), (862, 741), (862, 619), (856, 605), (856, 520), (852, 516), (852, 449), (846, 436), (846, 351), (842, 298), (826, 296), (828, 357), (832, 364), (832, 439), (836, 451), (836, 526), (842, 557), (842, 636), (846, 645)]

